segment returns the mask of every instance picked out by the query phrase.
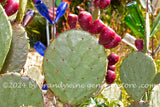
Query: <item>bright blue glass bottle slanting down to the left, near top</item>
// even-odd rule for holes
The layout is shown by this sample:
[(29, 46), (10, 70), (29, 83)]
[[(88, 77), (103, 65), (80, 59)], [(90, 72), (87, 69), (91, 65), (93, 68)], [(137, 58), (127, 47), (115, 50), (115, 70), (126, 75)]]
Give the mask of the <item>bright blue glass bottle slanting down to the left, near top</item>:
[(55, 18), (55, 23), (58, 22), (58, 20), (64, 15), (64, 13), (66, 12), (67, 10), (67, 7), (68, 7), (68, 3), (66, 2), (61, 2), (57, 8), (57, 11), (56, 11), (56, 18)]

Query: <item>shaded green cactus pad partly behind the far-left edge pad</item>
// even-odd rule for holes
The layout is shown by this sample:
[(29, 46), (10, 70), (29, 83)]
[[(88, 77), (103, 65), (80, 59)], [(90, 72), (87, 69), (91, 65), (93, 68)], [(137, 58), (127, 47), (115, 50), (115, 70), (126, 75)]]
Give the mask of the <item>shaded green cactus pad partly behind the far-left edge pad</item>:
[(27, 59), (29, 43), (26, 39), (26, 32), (24, 28), (18, 24), (13, 25), (12, 29), (12, 43), (2, 68), (3, 72), (20, 72)]

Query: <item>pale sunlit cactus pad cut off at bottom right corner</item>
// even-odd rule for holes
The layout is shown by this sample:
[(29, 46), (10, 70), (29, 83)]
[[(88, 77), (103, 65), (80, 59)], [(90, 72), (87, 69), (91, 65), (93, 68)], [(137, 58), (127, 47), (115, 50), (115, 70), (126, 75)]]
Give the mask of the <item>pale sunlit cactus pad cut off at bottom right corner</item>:
[(160, 107), (160, 84), (152, 89), (149, 104), (150, 107)]

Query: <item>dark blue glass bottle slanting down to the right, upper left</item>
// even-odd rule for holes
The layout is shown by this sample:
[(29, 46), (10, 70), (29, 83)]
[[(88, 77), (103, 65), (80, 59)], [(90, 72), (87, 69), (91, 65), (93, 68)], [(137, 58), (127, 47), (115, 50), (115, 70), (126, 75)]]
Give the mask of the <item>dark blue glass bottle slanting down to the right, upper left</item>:
[(35, 7), (37, 8), (38, 12), (49, 21), (50, 24), (53, 24), (53, 21), (49, 16), (47, 6), (41, 0), (37, 0)]

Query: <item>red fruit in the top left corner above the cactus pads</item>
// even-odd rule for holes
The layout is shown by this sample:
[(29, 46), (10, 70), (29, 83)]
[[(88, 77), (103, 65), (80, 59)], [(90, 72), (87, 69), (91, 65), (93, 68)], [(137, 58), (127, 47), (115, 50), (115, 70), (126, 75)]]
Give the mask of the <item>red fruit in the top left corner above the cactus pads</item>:
[[(5, 0), (0, 0), (1, 2), (5, 2)], [(14, 13), (17, 12), (18, 8), (19, 8), (19, 4), (14, 1), (14, 0), (7, 0), (7, 2), (5, 3), (5, 5), (3, 6), (7, 16), (11, 16)]]

